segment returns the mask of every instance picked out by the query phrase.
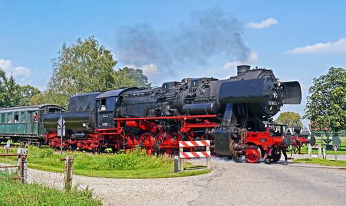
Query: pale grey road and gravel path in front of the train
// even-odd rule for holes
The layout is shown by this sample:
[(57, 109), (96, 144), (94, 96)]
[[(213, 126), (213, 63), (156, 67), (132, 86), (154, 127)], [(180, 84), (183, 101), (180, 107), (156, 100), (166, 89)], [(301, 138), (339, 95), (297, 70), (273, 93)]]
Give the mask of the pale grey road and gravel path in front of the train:
[[(212, 171), (171, 179), (74, 176), (105, 205), (345, 205), (346, 170), (289, 163), (234, 163), (212, 159)], [(30, 181), (59, 186), (61, 174), (30, 170)], [(58, 184), (58, 185), (57, 185)]]

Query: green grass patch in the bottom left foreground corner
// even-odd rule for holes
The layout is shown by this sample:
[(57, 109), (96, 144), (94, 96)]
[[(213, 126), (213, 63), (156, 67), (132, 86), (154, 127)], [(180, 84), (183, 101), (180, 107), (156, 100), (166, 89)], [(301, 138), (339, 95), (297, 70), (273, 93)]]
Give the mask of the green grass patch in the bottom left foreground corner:
[(53, 187), (0, 179), (0, 191), (0, 205), (102, 205), (100, 199), (92, 198), (88, 189), (63, 192)]

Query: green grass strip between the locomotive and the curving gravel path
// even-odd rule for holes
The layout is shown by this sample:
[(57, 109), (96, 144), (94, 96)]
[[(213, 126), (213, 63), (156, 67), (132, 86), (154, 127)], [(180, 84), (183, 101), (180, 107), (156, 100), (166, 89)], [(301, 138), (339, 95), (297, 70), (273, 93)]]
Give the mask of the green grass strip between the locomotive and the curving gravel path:
[[(1, 152), (1, 151), (0, 151)], [(14, 153), (14, 149), (11, 153)], [(64, 172), (66, 155), (74, 156), (73, 173), (85, 176), (112, 178), (163, 178), (191, 176), (210, 172), (205, 167), (185, 163), (186, 171), (174, 173), (171, 157), (147, 156), (139, 149), (130, 154), (88, 154), (85, 152), (64, 152), (61, 156), (50, 148), (28, 148), (28, 167), (49, 172)], [(4, 163), (15, 163), (16, 157), (0, 157)], [(191, 170), (196, 168), (198, 170)]]

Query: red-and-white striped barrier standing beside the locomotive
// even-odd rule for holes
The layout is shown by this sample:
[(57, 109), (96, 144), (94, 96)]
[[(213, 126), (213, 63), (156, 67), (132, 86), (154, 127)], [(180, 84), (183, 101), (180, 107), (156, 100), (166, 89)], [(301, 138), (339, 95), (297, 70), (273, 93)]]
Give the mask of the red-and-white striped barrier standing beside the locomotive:
[[(205, 151), (199, 152), (184, 152), (184, 148), (197, 148), (205, 147)], [(180, 170), (184, 170), (184, 159), (205, 157), (207, 160), (207, 169), (211, 168), (210, 165), (210, 140), (200, 140), (200, 141), (180, 141), (179, 142), (179, 161)]]

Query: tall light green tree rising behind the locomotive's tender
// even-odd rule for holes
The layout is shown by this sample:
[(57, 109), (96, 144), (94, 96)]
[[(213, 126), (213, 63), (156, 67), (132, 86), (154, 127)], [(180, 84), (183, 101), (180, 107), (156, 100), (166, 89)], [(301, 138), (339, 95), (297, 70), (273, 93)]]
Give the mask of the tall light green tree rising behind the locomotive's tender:
[(114, 65), (110, 50), (93, 36), (63, 44), (59, 56), (52, 60), (53, 74), (45, 91), (45, 102), (67, 106), (68, 98), (79, 93), (114, 89)]

